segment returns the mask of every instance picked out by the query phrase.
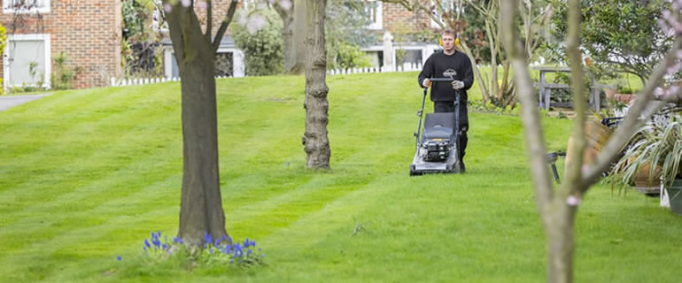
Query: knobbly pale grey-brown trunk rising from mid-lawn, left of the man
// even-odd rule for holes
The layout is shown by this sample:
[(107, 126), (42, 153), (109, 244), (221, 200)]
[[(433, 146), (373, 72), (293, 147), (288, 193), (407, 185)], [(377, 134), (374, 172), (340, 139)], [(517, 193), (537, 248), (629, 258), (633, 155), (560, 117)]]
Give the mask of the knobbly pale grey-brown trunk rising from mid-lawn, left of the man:
[(327, 101), (327, 55), (324, 46), (324, 18), (327, 0), (306, 0), (306, 132), (303, 146), (308, 168), (329, 168), (329, 103)]

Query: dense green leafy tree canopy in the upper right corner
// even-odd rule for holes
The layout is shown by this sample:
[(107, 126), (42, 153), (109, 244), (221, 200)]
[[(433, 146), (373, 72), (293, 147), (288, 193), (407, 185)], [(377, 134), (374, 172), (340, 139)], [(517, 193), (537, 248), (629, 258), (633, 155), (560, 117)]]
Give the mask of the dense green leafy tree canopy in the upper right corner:
[[(552, 6), (555, 40), (550, 50), (565, 60), (565, 46), (556, 39), (568, 32), (566, 1), (553, 0)], [(594, 72), (598, 76), (632, 73), (644, 81), (670, 49), (672, 34), (656, 21), (668, 9), (670, 3), (663, 0), (582, 1), (581, 46), (593, 59)]]

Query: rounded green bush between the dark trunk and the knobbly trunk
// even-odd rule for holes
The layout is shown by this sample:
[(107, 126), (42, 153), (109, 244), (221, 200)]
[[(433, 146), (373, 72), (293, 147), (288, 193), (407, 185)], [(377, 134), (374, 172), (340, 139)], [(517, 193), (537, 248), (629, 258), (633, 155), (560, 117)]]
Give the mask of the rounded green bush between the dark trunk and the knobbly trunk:
[[(244, 51), (244, 63), (246, 74), (251, 76), (264, 76), (283, 73), (284, 69), (284, 42), (282, 39), (282, 19), (275, 11), (259, 11), (265, 26), (258, 31), (249, 31), (248, 25), (240, 25), (235, 22), (232, 36), (236, 47)], [(238, 19), (238, 17), (237, 17)]]

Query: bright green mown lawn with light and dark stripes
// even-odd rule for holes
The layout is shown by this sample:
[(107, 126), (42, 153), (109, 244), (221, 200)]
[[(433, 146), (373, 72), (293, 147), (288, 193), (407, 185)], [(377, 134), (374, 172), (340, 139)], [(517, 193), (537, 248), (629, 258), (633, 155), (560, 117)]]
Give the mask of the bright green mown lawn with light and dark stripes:
[[(542, 281), (520, 120), (471, 114), (468, 172), (410, 178), (415, 77), (328, 77), (330, 172), (304, 168), (302, 77), (218, 81), (228, 232), (267, 259), (247, 272), (137, 264), (152, 230), (177, 229), (178, 83), (0, 112), (0, 282)], [(544, 126), (548, 148), (565, 149), (570, 121)], [(679, 231), (656, 199), (594, 187), (577, 216), (577, 281), (677, 281)]]

